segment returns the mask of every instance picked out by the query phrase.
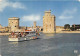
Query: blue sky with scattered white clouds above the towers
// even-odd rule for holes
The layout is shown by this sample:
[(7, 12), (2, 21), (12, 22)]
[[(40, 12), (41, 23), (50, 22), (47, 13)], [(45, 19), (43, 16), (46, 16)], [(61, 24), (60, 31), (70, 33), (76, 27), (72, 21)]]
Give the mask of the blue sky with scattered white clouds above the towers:
[(43, 25), (44, 12), (51, 10), (56, 25), (80, 24), (80, 0), (0, 0), (0, 24), (8, 26), (8, 18), (19, 17), (20, 26)]

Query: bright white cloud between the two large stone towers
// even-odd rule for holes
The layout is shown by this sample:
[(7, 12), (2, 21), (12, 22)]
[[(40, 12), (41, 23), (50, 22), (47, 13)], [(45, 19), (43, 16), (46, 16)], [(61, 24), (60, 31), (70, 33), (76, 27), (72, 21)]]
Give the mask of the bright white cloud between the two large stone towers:
[(38, 21), (40, 20), (40, 15), (28, 15), (28, 16), (23, 16), (22, 17), (22, 21), (26, 22), (26, 21)]

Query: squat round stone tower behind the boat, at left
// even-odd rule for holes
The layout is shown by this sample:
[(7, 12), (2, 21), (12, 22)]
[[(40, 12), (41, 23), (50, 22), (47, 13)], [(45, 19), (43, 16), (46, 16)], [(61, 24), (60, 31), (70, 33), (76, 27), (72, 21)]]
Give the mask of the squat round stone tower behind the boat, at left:
[(12, 17), (8, 19), (8, 27), (10, 27), (11, 32), (15, 32), (19, 29), (19, 18)]

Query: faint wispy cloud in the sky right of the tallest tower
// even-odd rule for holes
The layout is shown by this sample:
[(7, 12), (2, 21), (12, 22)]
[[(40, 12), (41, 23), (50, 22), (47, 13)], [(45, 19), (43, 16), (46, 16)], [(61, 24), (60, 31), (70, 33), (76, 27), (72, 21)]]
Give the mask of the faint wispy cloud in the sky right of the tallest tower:
[(59, 16), (59, 19), (72, 19), (74, 18), (74, 14), (77, 12), (77, 8), (72, 10), (64, 10), (64, 12)]

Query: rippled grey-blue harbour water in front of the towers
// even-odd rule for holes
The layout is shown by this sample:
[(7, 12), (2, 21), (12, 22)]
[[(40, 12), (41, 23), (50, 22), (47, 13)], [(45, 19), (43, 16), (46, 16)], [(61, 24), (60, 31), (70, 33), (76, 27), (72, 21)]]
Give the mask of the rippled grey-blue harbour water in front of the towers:
[(80, 33), (42, 34), (40, 39), (8, 42), (8, 36), (0, 36), (2, 56), (79, 56)]

